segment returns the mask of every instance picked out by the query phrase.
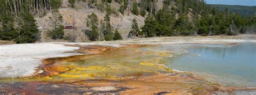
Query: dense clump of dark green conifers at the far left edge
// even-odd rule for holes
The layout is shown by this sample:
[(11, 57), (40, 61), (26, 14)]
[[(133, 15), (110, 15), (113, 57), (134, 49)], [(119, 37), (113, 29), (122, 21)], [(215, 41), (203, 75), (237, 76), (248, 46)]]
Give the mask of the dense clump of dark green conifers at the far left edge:
[[(0, 7), (0, 22), (2, 25), (0, 28), (0, 38), (2, 40), (15, 39), (16, 43), (31, 43), (40, 39), (36, 20), (26, 4), (19, 6), (17, 14), (9, 10), (10, 6), (6, 4), (6, 1), (1, 1)], [(17, 16), (17, 18), (15, 19), (14, 16)]]

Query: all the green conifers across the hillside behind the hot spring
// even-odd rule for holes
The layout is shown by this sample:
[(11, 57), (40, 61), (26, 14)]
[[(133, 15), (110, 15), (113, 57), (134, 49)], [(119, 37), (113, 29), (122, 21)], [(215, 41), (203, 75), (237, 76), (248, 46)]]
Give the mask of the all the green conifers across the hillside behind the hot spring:
[[(72, 4), (75, 1), (71, 1)], [(110, 0), (103, 0), (105, 17), (98, 20), (95, 13), (87, 16), (86, 26), (91, 30), (85, 32), (89, 39), (95, 40), (120, 40), (122, 36), (110, 23), (111, 13), (116, 13), (110, 6)], [(120, 13), (129, 9), (133, 14), (146, 17), (145, 25), (138, 26), (136, 19), (132, 21), (132, 29), (129, 38), (143, 38), (154, 36), (176, 35), (234, 35), (255, 33), (256, 16), (241, 17), (237, 13), (231, 13), (228, 9), (220, 11), (206, 5), (204, 0), (164, 0), (163, 7), (156, 11), (156, 1), (142, 0), (139, 3), (129, 0), (115, 0), (120, 6)], [(91, 3), (97, 3), (91, 1)], [(96, 5), (96, 4), (95, 4)], [(40, 39), (36, 20), (33, 16), (44, 11), (51, 11), (53, 30), (49, 30), (48, 36), (52, 39), (64, 38), (64, 26), (62, 16), (58, 8), (61, 1), (0, 1), (0, 39), (12, 40), (17, 43), (30, 43)], [(176, 6), (176, 7), (173, 7)], [(122, 8), (123, 7), (123, 8)]]

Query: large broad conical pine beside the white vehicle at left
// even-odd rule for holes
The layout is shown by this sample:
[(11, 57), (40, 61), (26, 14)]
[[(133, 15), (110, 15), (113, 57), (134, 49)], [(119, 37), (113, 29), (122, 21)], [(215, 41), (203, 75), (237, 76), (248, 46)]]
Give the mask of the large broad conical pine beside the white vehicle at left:
[(40, 39), (40, 32), (37, 29), (36, 20), (26, 9), (23, 4), (23, 9), (18, 13), (18, 37), (16, 43), (32, 43)]

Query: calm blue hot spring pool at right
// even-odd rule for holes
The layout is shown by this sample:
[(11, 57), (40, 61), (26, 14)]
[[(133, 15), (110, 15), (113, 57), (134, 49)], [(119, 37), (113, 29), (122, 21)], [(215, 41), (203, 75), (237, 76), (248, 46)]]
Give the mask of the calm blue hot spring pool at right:
[(162, 47), (166, 48), (187, 51), (167, 58), (169, 68), (202, 72), (211, 81), (227, 85), (256, 87), (256, 43)]

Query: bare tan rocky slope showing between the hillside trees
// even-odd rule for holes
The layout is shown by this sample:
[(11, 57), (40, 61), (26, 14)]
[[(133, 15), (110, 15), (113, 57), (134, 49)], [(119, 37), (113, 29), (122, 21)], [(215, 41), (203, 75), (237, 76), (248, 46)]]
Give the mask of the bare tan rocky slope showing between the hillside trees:
[[(96, 1), (97, 4), (101, 3), (101, 0)], [(137, 2), (140, 2), (137, 1)], [(76, 1), (75, 2), (75, 8), (70, 7), (70, 3), (68, 0), (63, 0), (62, 6), (59, 8), (60, 14), (63, 16), (63, 25), (74, 25), (80, 29), (87, 29), (86, 27), (86, 18), (88, 14), (91, 14), (94, 12), (99, 20), (103, 20), (105, 16), (105, 12), (101, 11), (97, 6), (95, 6), (95, 3), (93, 3), (92, 8), (87, 7), (88, 2), (82, 2), (82, 1)], [(145, 17), (143, 16), (136, 16), (134, 15), (131, 10), (125, 10), (124, 14), (120, 13), (118, 10), (122, 4), (119, 4), (115, 1), (112, 1), (110, 3), (111, 8), (116, 11), (116, 14), (112, 13), (110, 15), (111, 18), (111, 25), (114, 28), (118, 28), (120, 30), (129, 30), (131, 29), (132, 19), (136, 18), (138, 21), (138, 25), (142, 26), (144, 25)], [(132, 5), (130, 5), (131, 7)], [(156, 10), (161, 9), (163, 6), (163, 0), (158, 0), (156, 2)], [(51, 13), (48, 12), (46, 16), (39, 17), (36, 16), (35, 19), (37, 20), (38, 26), (41, 26), (43, 29), (50, 29), (51, 28), (51, 22), (49, 20), (49, 17), (51, 16)]]

